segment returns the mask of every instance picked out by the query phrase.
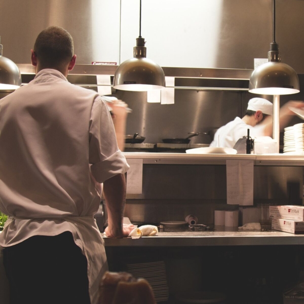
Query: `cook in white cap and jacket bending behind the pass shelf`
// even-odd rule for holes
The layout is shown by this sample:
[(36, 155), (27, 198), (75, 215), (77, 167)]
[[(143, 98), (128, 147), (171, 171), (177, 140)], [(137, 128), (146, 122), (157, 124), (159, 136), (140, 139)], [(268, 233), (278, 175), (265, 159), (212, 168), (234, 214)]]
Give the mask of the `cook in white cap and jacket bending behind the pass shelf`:
[[(284, 128), (295, 115), (289, 106), (303, 107), (303, 102), (289, 101), (280, 109), (280, 127)], [(210, 147), (233, 148), (236, 142), (249, 135), (252, 138), (272, 136), (273, 104), (264, 98), (254, 97), (248, 102), (244, 117), (236, 117), (232, 122), (220, 127), (214, 134)]]

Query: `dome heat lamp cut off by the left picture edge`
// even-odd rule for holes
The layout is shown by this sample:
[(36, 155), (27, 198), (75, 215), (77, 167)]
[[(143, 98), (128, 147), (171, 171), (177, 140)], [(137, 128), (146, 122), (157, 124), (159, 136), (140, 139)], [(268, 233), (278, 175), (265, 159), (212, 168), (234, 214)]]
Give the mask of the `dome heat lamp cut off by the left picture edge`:
[(21, 86), (21, 74), (11, 59), (2, 56), (2, 50), (0, 44), (0, 91), (15, 90)]

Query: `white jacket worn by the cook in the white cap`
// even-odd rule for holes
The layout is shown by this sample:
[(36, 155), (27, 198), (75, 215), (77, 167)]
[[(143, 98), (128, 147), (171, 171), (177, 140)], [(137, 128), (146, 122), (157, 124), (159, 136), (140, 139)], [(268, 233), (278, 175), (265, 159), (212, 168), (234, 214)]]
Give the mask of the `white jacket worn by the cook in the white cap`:
[(235, 120), (220, 127), (215, 132), (210, 147), (233, 148), (240, 138), (247, 136), (248, 129), (249, 136), (252, 138), (264, 135), (260, 126), (247, 125), (242, 119), (236, 117)]

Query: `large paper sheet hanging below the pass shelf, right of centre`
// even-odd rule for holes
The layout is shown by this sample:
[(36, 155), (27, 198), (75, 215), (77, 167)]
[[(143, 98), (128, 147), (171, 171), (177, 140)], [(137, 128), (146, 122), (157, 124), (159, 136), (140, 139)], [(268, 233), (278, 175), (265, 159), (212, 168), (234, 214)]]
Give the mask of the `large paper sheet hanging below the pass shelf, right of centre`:
[(226, 161), (227, 204), (253, 205), (253, 161)]

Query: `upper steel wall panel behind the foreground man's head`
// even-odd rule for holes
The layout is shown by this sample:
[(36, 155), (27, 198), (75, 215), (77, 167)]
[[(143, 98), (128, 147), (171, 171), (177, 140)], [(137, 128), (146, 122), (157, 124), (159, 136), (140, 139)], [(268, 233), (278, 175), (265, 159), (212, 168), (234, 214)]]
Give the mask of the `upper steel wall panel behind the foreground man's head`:
[(30, 63), (37, 34), (56, 25), (72, 35), (77, 63), (119, 64), (119, 0), (1, 0), (0, 8), (3, 55), (15, 63)]

